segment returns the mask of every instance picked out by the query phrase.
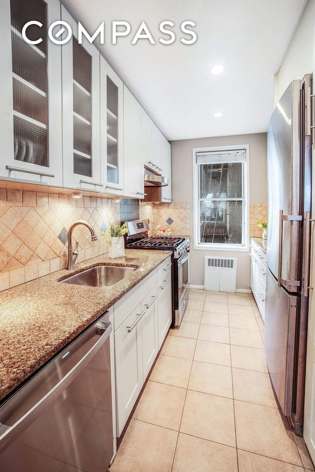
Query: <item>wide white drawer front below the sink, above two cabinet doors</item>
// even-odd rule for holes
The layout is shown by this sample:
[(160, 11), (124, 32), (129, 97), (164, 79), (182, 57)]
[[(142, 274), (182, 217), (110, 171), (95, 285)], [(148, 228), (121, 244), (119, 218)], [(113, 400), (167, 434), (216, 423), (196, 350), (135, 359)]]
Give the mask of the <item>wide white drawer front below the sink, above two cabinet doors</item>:
[(114, 330), (126, 320), (147, 294), (157, 285), (157, 270), (153, 270), (114, 305)]

